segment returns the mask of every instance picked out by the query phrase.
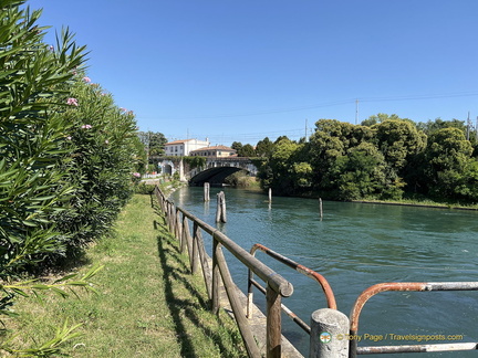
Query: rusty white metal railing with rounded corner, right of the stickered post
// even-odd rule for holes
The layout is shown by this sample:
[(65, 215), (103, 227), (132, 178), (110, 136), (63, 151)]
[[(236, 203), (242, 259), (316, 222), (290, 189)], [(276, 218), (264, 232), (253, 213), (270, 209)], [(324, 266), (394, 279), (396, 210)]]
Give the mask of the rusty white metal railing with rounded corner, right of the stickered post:
[[(387, 291), (478, 291), (478, 282), (388, 282), (366, 288), (355, 301), (350, 316), (350, 336), (358, 333), (358, 317), (365, 303), (374, 295)], [(435, 344), (435, 345), (402, 345), (357, 347), (357, 340), (350, 340), (350, 357), (371, 354), (427, 352), (449, 350), (476, 350), (478, 343)]]

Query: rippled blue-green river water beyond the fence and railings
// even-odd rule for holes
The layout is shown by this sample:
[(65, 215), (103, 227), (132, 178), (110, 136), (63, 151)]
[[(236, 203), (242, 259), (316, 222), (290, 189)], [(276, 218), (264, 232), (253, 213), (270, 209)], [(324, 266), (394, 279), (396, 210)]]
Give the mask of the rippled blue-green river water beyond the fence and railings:
[[(478, 212), (351, 202), (323, 202), (300, 198), (272, 198), (262, 192), (211, 188), (204, 202), (202, 188), (183, 188), (172, 199), (176, 206), (216, 227), (216, 193), (224, 190), (227, 223), (219, 229), (246, 250), (261, 243), (322, 274), (332, 286), (337, 308), (349, 316), (358, 294), (383, 282), (478, 281)], [(205, 236), (210, 254), (209, 236)], [(305, 323), (313, 310), (326, 307), (320, 286), (261, 252), (256, 256), (294, 286), (283, 303)], [(230, 259), (230, 260), (229, 260)], [(230, 270), (245, 292), (247, 272), (228, 256)], [(254, 297), (261, 296), (257, 289)], [(258, 299), (263, 306), (263, 299)], [(309, 336), (285, 315), (283, 334), (304, 355)], [(399, 345), (392, 335), (444, 335), (478, 341), (478, 292), (388, 292), (372, 297), (360, 318), (358, 346)], [(365, 340), (378, 336), (378, 341)], [(380, 338), (383, 337), (383, 339)], [(455, 337), (451, 337), (455, 336)], [(387, 339), (385, 339), (387, 337)], [(406, 344), (419, 344), (405, 341)], [(424, 341), (422, 341), (424, 344)], [(406, 354), (404, 357), (476, 357), (475, 351)], [(377, 357), (397, 357), (378, 355)]]

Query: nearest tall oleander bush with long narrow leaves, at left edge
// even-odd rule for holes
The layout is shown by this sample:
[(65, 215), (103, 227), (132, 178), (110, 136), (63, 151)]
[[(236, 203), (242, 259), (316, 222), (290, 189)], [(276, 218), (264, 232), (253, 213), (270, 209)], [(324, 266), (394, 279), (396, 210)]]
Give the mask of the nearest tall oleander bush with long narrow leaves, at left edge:
[(21, 3), (0, 0), (0, 278), (64, 252), (66, 238), (51, 217), (75, 190), (71, 125), (54, 110), (84, 49), (64, 31), (51, 51), (37, 25), (40, 12)]

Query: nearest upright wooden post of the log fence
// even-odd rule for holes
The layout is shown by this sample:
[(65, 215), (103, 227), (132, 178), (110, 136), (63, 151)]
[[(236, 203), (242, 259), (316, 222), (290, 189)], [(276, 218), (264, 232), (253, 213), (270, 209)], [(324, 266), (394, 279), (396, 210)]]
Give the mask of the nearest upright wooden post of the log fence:
[(273, 291), (270, 285), (266, 288), (267, 301), (267, 358), (280, 358), (282, 354), (282, 329), (281, 329), (281, 295)]

